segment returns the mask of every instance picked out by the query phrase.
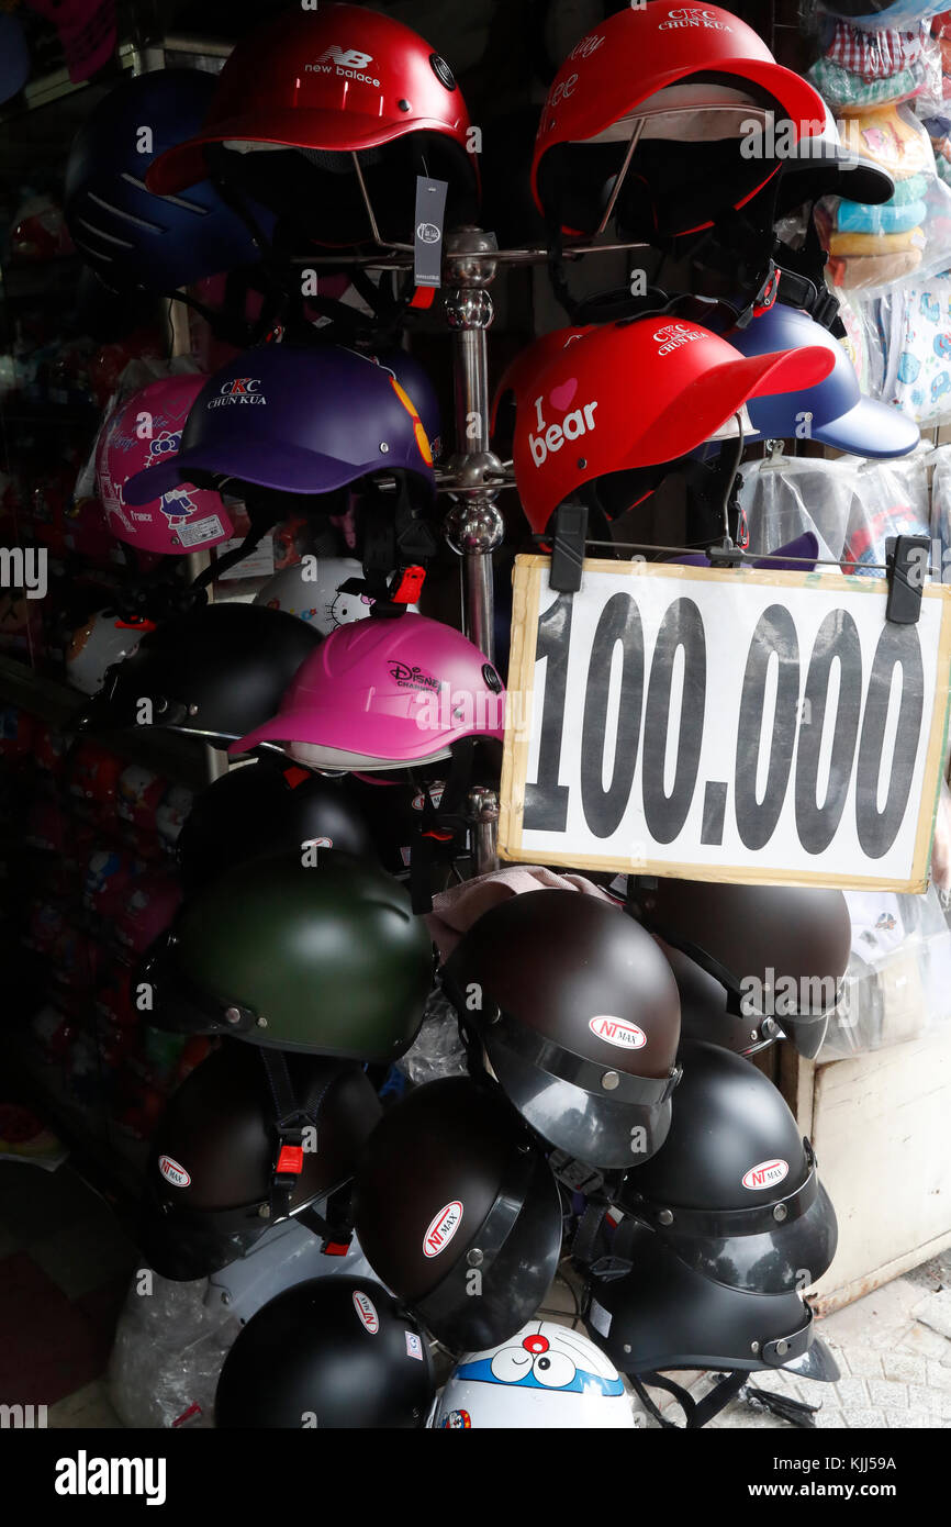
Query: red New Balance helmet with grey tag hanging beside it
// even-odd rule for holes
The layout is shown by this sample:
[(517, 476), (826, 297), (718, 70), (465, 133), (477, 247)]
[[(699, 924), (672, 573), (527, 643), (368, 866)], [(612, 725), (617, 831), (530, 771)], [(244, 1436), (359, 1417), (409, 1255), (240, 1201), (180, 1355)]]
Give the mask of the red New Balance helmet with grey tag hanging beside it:
[(321, 5), (238, 43), (200, 131), (148, 185), (179, 194), (214, 168), (318, 244), (412, 243), (417, 176), (446, 182), (447, 228), (475, 220), (472, 148), (466, 102), (429, 43), (363, 6)]

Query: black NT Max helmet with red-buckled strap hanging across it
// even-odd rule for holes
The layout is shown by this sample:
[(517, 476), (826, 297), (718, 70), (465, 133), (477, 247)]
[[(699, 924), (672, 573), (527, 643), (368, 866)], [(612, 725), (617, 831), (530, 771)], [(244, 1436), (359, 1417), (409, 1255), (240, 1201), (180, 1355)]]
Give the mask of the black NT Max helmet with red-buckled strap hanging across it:
[(287, 1078), (290, 1110), (275, 1102), (263, 1055), (226, 1041), (171, 1096), (153, 1136), (139, 1235), (163, 1278), (226, 1267), (270, 1225), (353, 1176), (382, 1112), (366, 1075), (353, 1063), (295, 1055)]

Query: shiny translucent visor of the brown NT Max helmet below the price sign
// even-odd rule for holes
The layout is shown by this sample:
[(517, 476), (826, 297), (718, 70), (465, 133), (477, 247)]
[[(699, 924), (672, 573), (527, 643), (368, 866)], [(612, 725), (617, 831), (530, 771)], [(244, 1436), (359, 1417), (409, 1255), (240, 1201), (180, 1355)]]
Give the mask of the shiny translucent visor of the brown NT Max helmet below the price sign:
[[(484, 1044), (502, 1092), (542, 1139), (577, 1161), (598, 1168), (629, 1168), (653, 1156), (670, 1130), (670, 1099), (656, 1106), (595, 1098), (575, 1083), (540, 1070), (496, 1043), (492, 1029)], [(644, 1132), (644, 1148), (640, 1132)], [(637, 1133), (635, 1133), (637, 1132)]]

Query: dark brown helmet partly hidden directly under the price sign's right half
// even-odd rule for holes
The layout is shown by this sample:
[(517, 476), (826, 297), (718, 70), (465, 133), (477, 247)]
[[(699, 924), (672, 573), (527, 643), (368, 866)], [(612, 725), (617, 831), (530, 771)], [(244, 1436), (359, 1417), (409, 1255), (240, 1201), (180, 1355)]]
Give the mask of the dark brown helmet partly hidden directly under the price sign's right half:
[(658, 880), (629, 898), (644, 927), (716, 976), (750, 1029), (771, 1019), (800, 1055), (818, 1054), (852, 945), (841, 890)]

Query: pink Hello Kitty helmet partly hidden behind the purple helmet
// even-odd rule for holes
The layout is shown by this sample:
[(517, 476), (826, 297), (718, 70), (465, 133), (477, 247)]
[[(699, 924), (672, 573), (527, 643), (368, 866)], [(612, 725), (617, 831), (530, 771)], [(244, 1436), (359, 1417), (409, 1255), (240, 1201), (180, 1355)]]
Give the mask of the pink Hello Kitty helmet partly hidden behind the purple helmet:
[(185, 420), (205, 380), (189, 373), (150, 382), (116, 409), (99, 435), (96, 487), (108, 528), (140, 551), (188, 556), (232, 536), (221, 495), (211, 489), (177, 483), (150, 504), (125, 502), (131, 476), (179, 454)]

